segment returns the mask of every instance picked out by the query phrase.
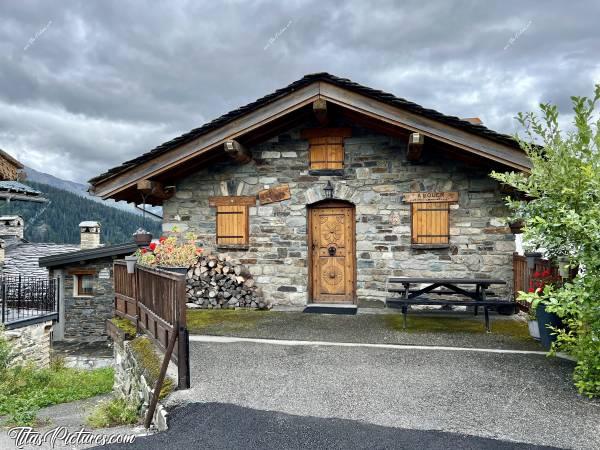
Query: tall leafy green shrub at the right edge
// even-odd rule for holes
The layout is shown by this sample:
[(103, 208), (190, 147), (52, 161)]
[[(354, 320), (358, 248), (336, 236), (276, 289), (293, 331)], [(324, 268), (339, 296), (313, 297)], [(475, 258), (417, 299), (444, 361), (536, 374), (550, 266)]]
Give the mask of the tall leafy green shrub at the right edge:
[(524, 242), (550, 257), (568, 256), (577, 277), (544, 300), (566, 324), (556, 330), (553, 351), (577, 358), (574, 372), (579, 392), (600, 396), (600, 120), (593, 98), (572, 97), (574, 127), (559, 127), (558, 108), (540, 105), (519, 114), (525, 137), (517, 136), (533, 163), (531, 173), (492, 173), (492, 177), (525, 194), (508, 199), (515, 218), (525, 223)]

